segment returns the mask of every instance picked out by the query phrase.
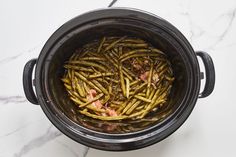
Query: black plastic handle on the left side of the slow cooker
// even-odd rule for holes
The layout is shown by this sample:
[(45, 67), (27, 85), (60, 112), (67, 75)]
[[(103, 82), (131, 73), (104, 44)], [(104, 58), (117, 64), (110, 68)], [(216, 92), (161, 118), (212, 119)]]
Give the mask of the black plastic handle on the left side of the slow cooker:
[(24, 88), (25, 96), (29, 102), (35, 105), (38, 104), (38, 99), (35, 96), (35, 93), (33, 90), (32, 73), (33, 73), (33, 69), (36, 64), (36, 61), (37, 59), (29, 60), (25, 64), (24, 71), (23, 71), (23, 88)]

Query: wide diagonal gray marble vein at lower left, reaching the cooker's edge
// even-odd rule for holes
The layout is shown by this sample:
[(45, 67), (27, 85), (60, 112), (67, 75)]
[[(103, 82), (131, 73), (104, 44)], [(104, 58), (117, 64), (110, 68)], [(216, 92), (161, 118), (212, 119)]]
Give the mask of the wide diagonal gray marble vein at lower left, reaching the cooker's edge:
[(22, 157), (28, 152), (32, 151), (33, 149), (39, 148), (43, 146), (44, 144), (48, 143), (49, 141), (54, 140), (55, 138), (61, 135), (62, 133), (60, 131), (52, 130), (52, 126), (50, 126), (44, 135), (29, 141), (20, 149), (19, 152), (14, 154), (14, 157)]

